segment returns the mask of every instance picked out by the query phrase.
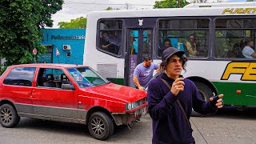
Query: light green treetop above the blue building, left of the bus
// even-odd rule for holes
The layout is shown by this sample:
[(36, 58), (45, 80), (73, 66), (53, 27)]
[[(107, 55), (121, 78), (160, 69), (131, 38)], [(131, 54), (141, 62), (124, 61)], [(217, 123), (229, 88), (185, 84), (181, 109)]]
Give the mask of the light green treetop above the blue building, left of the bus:
[(60, 29), (85, 29), (87, 18), (71, 19), (70, 22), (58, 22)]

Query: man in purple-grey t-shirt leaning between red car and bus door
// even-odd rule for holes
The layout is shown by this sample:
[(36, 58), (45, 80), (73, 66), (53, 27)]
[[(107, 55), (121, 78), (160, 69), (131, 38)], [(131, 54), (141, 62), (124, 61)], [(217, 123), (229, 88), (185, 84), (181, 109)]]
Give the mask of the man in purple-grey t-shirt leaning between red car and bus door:
[(143, 62), (138, 64), (134, 70), (134, 83), (136, 88), (139, 90), (145, 90), (145, 86), (150, 79), (153, 78), (154, 70), (158, 72), (159, 66), (152, 62), (152, 58), (150, 56), (146, 56), (143, 58)]

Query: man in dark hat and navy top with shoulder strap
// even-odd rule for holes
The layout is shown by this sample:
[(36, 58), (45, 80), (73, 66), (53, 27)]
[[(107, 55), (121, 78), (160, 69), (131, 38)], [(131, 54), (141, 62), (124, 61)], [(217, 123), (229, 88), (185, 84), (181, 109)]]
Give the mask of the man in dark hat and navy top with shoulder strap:
[(185, 52), (170, 47), (162, 53), (162, 74), (152, 80), (147, 90), (148, 110), (153, 122), (152, 143), (195, 143), (190, 126), (192, 107), (200, 114), (214, 114), (222, 108), (218, 100), (202, 100), (194, 82), (182, 78), (186, 71)]

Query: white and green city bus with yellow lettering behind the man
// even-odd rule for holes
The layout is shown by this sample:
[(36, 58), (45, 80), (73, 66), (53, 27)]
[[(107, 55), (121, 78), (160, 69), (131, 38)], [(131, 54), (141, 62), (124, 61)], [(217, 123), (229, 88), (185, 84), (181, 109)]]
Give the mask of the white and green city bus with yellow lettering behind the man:
[(186, 52), (182, 74), (203, 99), (225, 94), (227, 105), (256, 106), (256, 61), (242, 54), (246, 39), (256, 38), (255, 14), (256, 2), (90, 12), (83, 64), (111, 82), (134, 87), (135, 66), (144, 56), (160, 63), (167, 39)]

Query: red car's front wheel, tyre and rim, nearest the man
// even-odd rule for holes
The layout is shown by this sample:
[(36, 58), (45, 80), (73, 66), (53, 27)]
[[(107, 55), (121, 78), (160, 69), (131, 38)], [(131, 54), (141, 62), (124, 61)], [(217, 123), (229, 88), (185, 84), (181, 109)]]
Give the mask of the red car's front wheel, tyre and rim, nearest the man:
[(96, 112), (90, 115), (88, 130), (94, 138), (103, 141), (113, 134), (114, 123), (107, 114)]

